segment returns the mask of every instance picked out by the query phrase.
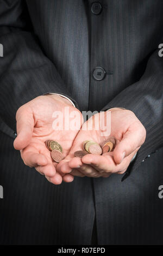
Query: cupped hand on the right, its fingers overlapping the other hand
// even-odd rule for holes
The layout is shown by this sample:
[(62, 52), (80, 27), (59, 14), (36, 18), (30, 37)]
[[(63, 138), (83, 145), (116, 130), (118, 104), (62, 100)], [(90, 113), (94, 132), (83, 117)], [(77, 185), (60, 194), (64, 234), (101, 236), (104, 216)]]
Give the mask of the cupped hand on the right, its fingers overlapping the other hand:
[[(145, 142), (145, 127), (135, 114), (127, 109), (112, 108), (109, 120), (111, 124), (108, 123), (107, 112), (102, 118), (106, 125), (110, 125), (111, 132), (109, 129), (105, 132), (103, 127), (98, 125), (101, 123), (100, 113), (93, 115), (83, 124), (66, 159), (58, 164), (57, 169), (60, 172), (89, 177), (108, 177), (112, 173), (126, 172), (131, 159)], [(90, 124), (93, 124), (92, 129), (86, 130), (85, 127), (89, 127)], [(99, 126), (99, 129), (96, 130), (95, 126)], [(116, 140), (114, 151), (103, 155), (87, 154), (82, 159), (74, 157), (74, 151), (83, 149), (83, 141), (88, 139), (101, 144), (110, 137)]]

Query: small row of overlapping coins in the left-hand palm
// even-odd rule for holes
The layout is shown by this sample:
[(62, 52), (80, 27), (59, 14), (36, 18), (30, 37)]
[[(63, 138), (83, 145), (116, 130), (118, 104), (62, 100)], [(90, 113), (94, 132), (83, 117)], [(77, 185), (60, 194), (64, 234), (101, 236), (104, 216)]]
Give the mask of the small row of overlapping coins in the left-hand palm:
[(52, 141), (49, 139), (45, 142), (46, 147), (51, 151), (52, 159), (59, 163), (62, 159), (64, 159), (64, 156), (62, 155), (62, 147), (57, 141)]

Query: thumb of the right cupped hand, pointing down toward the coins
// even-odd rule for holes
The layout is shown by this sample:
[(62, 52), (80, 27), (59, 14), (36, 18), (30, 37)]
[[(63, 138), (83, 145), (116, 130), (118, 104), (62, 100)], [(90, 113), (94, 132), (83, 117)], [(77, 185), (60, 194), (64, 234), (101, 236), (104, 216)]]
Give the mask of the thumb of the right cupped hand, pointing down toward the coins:
[(145, 128), (141, 125), (133, 125), (123, 136), (122, 141), (114, 149), (114, 161), (120, 164), (124, 157), (129, 156), (145, 141)]

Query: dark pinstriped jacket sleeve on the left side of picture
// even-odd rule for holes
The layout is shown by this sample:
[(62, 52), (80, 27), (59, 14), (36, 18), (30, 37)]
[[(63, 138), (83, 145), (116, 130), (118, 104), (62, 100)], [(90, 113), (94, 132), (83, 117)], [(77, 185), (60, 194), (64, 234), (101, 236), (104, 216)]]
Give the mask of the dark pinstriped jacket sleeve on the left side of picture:
[(0, 116), (13, 130), (17, 109), (36, 96), (58, 93), (74, 102), (55, 65), (43, 54), (31, 32), (25, 4), (21, 0), (0, 3)]

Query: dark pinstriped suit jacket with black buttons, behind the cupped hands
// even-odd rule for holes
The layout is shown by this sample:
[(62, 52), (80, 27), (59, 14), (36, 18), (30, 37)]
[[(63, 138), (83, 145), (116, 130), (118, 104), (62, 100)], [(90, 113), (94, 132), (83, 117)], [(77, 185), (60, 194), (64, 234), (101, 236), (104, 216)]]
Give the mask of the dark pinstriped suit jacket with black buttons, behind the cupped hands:
[[(95, 216), (98, 243), (162, 243), (162, 150), (142, 161), (163, 145), (163, 1), (100, 0), (99, 15), (92, 2), (0, 2), (0, 184), (8, 195), (0, 202), (1, 243), (89, 244)], [(102, 81), (92, 76), (97, 66), (106, 71)], [(16, 111), (49, 92), (70, 97), (81, 111), (136, 114), (147, 138), (126, 181), (112, 175), (54, 186), (22, 164), (12, 148)]]

